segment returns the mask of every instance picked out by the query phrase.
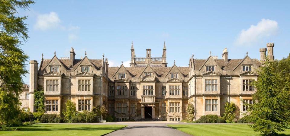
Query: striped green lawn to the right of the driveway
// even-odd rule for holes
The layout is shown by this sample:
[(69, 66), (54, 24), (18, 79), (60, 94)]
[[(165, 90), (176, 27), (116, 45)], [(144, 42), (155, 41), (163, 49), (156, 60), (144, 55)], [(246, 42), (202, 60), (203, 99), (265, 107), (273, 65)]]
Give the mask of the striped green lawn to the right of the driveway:
[[(191, 135), (223, 135), (223, 136), (233, 136), (233, 135), (260, 135), (259, 132), (253, 131), (247, 124), (189, 124), (189, 125), (168, 125), (179, 131)], [(279, 133), (280, 135), (290, 135), (290, 130)]]

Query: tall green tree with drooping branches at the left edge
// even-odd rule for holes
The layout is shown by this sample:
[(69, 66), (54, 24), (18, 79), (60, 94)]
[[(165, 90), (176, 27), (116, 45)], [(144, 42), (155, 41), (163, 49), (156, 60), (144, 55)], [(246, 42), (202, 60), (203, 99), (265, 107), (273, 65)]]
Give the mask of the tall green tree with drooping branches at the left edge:
[(17, 8), (28, 9), (31, 0), (0, 1), (0, 124), (10, 125), (20, 113), (19, 94), (22, 77), (28, 73), (25, 62), (28, 56), (20, 49), (21, 40), (26, 41), (27, 24), (24, 17), (15, 17)]

